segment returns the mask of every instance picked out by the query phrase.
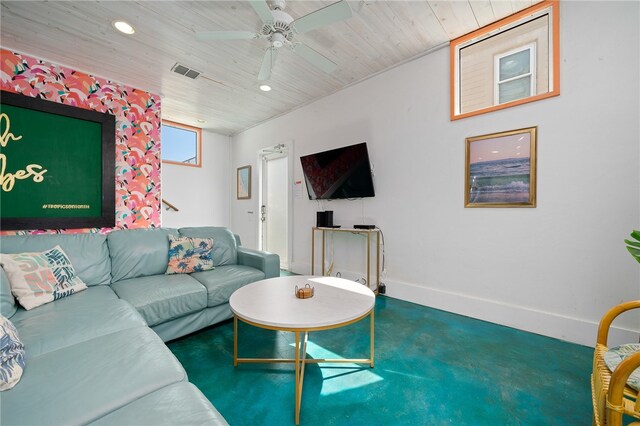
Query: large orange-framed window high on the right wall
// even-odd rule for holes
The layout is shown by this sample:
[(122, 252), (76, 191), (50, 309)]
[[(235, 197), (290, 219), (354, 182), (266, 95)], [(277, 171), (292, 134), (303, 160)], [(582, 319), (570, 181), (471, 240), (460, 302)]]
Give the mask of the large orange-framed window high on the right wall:
[(557, 1), (451, 41), (451, 120), (560, 94)]

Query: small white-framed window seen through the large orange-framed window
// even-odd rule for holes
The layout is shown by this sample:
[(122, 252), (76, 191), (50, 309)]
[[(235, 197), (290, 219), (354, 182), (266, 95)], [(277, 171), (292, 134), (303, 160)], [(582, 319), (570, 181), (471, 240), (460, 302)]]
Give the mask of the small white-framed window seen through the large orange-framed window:
[(493, 72), (495, 105), (535, 95), (535, 43), (496, 55)]

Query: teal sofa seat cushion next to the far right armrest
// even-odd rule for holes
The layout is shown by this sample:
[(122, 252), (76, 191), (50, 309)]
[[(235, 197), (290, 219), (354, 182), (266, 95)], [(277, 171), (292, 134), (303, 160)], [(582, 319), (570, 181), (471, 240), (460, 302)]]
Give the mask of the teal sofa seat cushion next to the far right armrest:
[(251, 266), (225, 265), (213, 271), (194, 272), (191, 274), (207, 288), (207, 306), (218, 306), (227, 303), (231, 293), (240, 287), (264, 279), (264, 272)]

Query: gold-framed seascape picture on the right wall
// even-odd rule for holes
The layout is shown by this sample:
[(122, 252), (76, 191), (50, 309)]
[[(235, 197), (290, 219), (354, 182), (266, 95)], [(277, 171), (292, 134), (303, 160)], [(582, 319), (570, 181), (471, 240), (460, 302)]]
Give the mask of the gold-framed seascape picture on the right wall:
[(535, 207), (537, 127), (466, 139), (465, 207)]

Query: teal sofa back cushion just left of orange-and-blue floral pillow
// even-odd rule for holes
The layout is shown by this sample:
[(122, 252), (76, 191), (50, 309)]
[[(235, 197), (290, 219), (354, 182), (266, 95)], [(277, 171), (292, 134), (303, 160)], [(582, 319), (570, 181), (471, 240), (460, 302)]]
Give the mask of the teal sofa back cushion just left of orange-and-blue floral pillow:
[(164, 274), (169, 260), (171, 228), (125, 229), (109, 233), (112, 281)]

